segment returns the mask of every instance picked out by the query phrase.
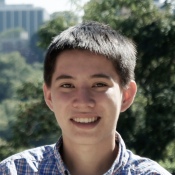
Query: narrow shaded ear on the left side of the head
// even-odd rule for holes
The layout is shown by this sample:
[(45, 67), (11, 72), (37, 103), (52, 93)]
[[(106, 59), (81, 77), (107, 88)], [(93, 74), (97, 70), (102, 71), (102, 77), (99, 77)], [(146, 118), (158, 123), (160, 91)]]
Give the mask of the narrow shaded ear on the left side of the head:
[(43, 92), (44, 92), (44, 100), (47, 106), (50, 108), (51, 111), (53, 111), (51, 90), (45, 83), (43, 84)]

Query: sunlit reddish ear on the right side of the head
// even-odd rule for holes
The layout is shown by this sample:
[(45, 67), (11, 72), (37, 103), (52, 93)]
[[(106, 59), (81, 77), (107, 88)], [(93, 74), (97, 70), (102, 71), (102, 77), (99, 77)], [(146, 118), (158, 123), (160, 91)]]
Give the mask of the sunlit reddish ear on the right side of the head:
[(121, 104), (121, 112), (126, 111), (134, 101), (137, 92), (137, 85), (135, 81), (130, 81), (128, 86), (123, 89), (123, 98)]

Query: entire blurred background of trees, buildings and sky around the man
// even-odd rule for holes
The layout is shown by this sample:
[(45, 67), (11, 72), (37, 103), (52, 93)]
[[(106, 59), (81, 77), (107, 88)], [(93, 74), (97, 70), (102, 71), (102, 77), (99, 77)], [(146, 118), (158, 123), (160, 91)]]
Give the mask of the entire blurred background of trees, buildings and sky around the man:
[(52, 38), (95, 20), (137, 45), (138, 93), (117, 131), (128, 149), (175, 173), (175, 0), (0, 0), (0, 161), (61, 134), (42, 94)]

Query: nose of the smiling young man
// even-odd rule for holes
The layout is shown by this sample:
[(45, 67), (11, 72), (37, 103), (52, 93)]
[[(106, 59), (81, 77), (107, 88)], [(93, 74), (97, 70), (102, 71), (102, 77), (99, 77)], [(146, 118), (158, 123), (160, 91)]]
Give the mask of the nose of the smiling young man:
[(73, 100), (74, 108), (93, 108), (94, 106), (95, 99), (88, 89), (83, 88), (77, 90)]

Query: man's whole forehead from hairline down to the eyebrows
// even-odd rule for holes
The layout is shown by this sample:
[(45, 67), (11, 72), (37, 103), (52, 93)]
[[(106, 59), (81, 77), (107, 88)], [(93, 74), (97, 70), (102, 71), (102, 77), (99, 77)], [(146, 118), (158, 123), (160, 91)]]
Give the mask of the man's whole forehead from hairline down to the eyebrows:
[(119, 79), (112, 62), (105, 56), (87, 50), (66, 50), (57, 56), (53, 79), (60, 75), (87, 78), (99, 74)]

